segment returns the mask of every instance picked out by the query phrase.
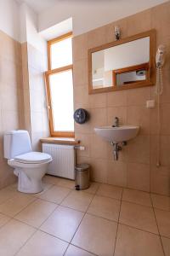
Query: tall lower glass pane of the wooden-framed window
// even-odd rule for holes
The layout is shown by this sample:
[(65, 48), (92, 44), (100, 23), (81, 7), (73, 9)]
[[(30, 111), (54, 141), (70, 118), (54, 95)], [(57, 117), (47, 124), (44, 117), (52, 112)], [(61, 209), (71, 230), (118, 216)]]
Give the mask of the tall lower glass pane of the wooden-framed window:
[(54, 131), (74, 131), (72, 70), (49, 76)]

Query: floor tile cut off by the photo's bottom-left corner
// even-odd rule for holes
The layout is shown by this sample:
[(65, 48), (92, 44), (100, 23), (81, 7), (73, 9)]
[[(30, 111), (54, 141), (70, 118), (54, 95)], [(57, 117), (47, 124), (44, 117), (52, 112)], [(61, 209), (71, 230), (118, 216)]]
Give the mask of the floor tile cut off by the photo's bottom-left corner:
[(9, 221), (0, 229), (0, 255), (14, 256), (34, 232), (31, 226), (14, 219)]

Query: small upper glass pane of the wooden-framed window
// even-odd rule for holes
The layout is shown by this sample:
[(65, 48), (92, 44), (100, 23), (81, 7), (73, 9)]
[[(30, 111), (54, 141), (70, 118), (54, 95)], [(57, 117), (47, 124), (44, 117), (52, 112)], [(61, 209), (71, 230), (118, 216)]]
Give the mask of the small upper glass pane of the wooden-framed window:
[(72, 39), (66, 38), (51, 45), (51, 69), (72, 64)]

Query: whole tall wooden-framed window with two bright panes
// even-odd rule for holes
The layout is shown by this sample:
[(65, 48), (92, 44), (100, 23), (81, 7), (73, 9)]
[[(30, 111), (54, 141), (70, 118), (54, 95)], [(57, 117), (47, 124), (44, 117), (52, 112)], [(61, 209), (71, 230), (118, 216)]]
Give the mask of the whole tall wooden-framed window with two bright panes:
[(51, 136), (74, 137), (71, 33), (48, 41), (45, 76)]

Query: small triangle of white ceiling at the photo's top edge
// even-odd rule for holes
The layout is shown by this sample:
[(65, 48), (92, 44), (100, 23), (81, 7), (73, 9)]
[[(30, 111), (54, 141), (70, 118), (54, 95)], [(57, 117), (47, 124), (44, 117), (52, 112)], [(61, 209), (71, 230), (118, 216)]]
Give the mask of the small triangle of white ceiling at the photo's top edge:
[(31, 7), (37, 14), (42, 11), (53, 7), (59, 0), (16, 0), (17, 3), (26, 3)]

